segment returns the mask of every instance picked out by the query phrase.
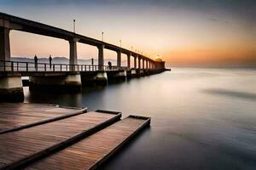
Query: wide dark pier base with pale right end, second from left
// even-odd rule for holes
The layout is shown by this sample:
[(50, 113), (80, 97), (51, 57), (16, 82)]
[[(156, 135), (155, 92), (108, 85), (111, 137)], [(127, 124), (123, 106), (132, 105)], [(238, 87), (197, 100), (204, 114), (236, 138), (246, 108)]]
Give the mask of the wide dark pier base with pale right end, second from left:
[(76, 93), (82, 89), (81, 76), (79, 73), (73, 72), (66, 76), (29, 77), (29, 89)]

